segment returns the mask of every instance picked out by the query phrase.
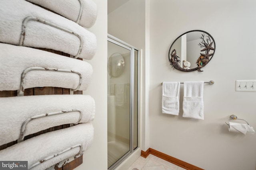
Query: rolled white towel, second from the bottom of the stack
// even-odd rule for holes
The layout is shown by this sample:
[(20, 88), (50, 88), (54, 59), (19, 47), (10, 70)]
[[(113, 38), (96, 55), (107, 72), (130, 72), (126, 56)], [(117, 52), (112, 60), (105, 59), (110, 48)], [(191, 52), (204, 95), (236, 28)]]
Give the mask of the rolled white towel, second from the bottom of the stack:
[[(72, 111), (73, 110), (73, 111)], [(51, 113), (62, 112), (55, 115)], [(80, 114), (81, 112), (81, 114)], [(47, 116), (26, 120), (38, 115)], [(94, 120), (95, 102), (89, 95), (40, 95), (0, 98), (0, 146), (50, 127)], [(82, 117), (80, 117), (82, 116)]]

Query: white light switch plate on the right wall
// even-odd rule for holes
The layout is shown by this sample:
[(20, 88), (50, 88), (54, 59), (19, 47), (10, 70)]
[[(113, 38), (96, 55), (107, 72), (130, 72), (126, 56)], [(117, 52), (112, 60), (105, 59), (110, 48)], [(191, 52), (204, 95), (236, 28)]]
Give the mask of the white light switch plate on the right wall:
[(236, 80), (236, 92), (256, 92), (256, 80)]

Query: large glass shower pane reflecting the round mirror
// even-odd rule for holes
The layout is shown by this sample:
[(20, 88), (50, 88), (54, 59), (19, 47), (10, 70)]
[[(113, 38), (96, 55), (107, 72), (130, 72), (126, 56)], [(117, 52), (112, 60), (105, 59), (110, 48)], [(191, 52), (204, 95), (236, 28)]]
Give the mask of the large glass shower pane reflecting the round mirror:
[(130, 151), (130, 55), (108, 41), (108, 168)]

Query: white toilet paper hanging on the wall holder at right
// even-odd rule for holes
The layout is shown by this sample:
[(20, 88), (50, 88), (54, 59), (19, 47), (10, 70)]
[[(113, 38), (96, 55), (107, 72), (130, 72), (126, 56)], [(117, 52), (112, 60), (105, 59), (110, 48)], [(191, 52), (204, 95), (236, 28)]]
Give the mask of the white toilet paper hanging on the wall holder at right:
[(243, 133), (244, 135), (246, 134), (246, 132), (249, 132), (252, 134), (255, 133), (253, 127), (251, 127), (247, 124), (234, 123), (234, 122), (229, 122), (228, 131), (240, 132), (240, 133)]

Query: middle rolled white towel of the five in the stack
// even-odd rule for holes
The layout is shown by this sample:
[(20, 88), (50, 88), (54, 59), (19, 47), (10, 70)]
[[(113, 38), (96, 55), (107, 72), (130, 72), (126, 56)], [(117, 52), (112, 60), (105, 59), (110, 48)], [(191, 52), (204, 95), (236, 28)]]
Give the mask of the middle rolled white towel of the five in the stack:
[[(19, 90), (22, 72), (35, 66), (80, 72), (82, 80), (77, 90), (86, 90), (92, 79), (92, 66), (86, 61), (4, 43), (0, 43), (0, 49), (0, 91)], [(76, 73), (31, 70), (25, 75), (24, 89), (45, 86), (76, 89), (79, 82)]]

